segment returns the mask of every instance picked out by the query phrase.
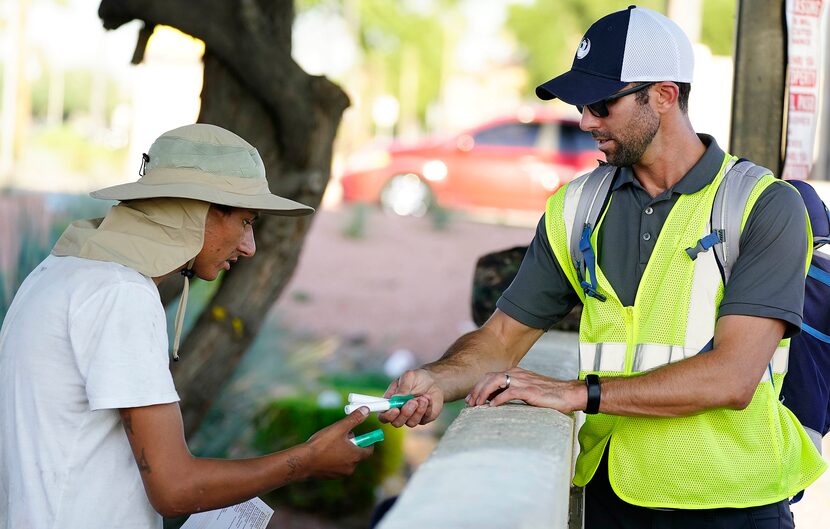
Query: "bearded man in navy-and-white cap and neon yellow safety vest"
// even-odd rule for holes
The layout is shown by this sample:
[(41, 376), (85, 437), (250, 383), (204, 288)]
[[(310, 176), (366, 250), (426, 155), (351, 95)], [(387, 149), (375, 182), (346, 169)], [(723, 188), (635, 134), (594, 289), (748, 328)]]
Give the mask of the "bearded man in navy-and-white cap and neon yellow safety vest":
[[(693, 61), (650, 9), (588, 29), (536, 93), (575, 105), (607, 163), (549, 199), (491, 318), (386, 392), (416, 395), (381, 416), (395, 426), (462, 398), (584, 411), (573, 481), (588, 528), (793, 527), (789, 498), (827, 466), (777, 398), (802, 322), (804, 203), (763, 168), (733, 173), (747, 165), (694, 131)], [(723, 198), (740, 225), (728, 281), (726, 230), (710, 226), (726, 175), (747, 191), (745, 209)], [(578, 303), (579, 379), (516, 367)]]

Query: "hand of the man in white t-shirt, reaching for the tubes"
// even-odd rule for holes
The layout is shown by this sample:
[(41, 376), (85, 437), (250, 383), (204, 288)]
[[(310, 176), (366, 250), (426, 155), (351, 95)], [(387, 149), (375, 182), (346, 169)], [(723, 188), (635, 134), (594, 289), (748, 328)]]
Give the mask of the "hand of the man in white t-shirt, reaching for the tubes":
[(358, 463), (372, 455), (373, 446), (361, 448), (349, 439), (351, 430), (366, 420), (368, 408), (355, 410), (345, 419), (323, 428), (306, 441), (311, 453), (309, 477), (335, 479), (350, 476)]

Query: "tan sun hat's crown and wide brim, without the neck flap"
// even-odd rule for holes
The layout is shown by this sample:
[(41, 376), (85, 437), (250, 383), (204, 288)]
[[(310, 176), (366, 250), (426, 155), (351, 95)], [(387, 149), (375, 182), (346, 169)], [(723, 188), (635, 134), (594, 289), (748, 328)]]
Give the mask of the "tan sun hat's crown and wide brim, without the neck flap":
[(192, 198), (273, 215), (314, 208), (271, 193), (265, 165), (248, 142), (221, 127), (196, 123), (165, 132), (144, 155), (141, 178), (90, 193), (95, 198)]

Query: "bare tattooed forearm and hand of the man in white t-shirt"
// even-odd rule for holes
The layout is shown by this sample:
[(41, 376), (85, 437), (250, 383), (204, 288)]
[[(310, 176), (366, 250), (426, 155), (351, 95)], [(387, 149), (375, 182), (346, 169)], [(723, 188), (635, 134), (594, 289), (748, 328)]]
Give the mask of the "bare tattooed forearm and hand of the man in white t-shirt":
[(176, 403), (119, 411), (147, 497), (167, 517), (227, 507), (293, 481), (349, 475), (372, 454), (371, 447), (358, 448), (348, 439), (366, 417), (361, 411), (306, 443), (239, 460), (193, 457)]

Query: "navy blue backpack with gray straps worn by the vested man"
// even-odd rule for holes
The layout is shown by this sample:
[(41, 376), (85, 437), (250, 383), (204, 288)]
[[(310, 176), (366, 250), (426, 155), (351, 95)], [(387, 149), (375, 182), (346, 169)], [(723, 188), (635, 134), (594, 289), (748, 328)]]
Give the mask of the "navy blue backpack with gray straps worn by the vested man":
[[(586, 296), (600, 301), (605, 301), (605, 297), (597, 291), (591, 233), (610, 198), (616, 169), (601, 164), (585, 179), (576, 206), (573, 232), (568, 237), (570, 257), (580, 286)], [(712, 232), (702, 237), (695, 247), (686, 249), (692, 260), (700, 252), (713, 249), (724, 285), (738, 259), (741, 221), (749, 195), (758, 180), (769, 174), (772, 171), (748, 160), (730, 161), (712, 205)], [(817, 250), (830, 242), (830, 213), (812, 186), (801, 181), (787, 182), (804, 200)], [(727, 204), (730, 207), (725, 207)], [(802, 332), (790, 340), (789, 366), (781, 386), (781, 401), (798, 418), (821, 452), (822, 437), (830, 430), (830, 254), (813, 252), (805, 282)], [(713, 341), (703, 351), (711, 349)], [(793, 501), (798, 501), (801, 494), (803, 491)]]

